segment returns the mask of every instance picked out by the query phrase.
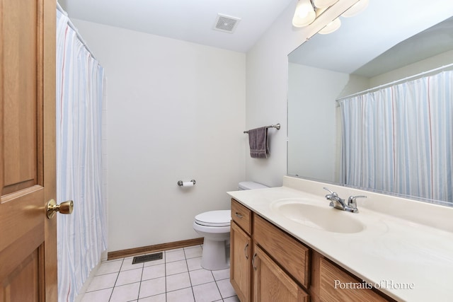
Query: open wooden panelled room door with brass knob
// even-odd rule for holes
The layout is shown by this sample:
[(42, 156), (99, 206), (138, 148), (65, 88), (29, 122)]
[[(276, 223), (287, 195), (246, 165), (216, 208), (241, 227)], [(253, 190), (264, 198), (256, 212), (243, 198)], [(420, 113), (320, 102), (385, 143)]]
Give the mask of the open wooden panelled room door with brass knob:
[(0, 0), (0, 301), (57, 301), (55, 0)]

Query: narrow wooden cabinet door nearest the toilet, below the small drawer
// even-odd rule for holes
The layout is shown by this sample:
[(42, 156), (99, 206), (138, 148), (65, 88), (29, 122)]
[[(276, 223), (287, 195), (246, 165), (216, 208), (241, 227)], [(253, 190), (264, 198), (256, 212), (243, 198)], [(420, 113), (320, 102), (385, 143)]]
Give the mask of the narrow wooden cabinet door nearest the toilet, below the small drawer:
[(251, 301), (251, 238), (231, 221), (230, 281), (241, 302)]

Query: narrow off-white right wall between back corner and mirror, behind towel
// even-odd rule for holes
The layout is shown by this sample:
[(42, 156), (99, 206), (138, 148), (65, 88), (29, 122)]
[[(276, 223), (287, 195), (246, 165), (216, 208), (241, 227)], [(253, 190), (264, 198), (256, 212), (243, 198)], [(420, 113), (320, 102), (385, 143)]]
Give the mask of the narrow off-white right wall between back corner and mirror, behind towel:
[(255, 128), (280, 122), (280, 131), (269, 129), (270, 158), (246, 157), (246, 178), (272, 187), (282, 185), (287, 173), (287, 55), (328, 22), (355, 3), (339, 1), (306, 28), (293, 28), (293, 1), (247, 53), (246, 126)]

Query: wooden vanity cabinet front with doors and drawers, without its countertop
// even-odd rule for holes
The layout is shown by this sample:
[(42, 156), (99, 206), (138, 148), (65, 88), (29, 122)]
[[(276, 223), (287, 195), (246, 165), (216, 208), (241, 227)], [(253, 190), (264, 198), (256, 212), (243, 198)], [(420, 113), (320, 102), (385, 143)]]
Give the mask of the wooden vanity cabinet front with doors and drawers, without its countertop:
[[(230, 281), (241, 302), (394, 301), (231, 199)], [(308, 294), (307, 294), (308, 293)]]

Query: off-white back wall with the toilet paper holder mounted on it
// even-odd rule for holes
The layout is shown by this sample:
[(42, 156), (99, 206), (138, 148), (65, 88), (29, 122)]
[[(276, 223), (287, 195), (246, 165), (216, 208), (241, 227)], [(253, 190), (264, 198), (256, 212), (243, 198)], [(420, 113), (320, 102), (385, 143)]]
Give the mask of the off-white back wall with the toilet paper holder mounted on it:
[(74, 25), (107, 76), (108, 251), (200, 237), (194, 216), (245, 178), (246, 55)]

